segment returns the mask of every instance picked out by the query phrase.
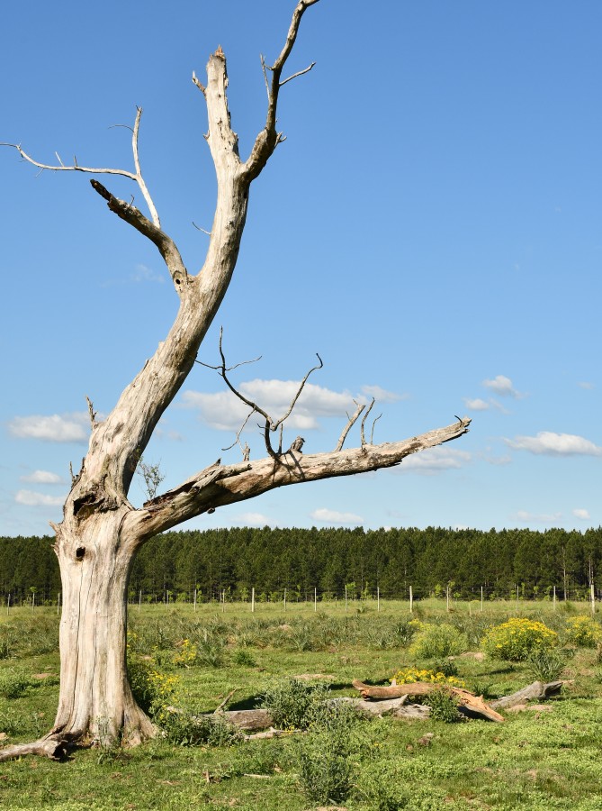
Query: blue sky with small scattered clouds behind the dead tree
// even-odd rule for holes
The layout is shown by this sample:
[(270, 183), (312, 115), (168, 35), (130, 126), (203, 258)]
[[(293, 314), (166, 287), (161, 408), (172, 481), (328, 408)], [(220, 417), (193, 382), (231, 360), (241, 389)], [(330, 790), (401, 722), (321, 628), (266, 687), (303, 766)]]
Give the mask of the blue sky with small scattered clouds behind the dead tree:
[[(140, 159), (188, 269), (202, 265), (215, 184), (191, 82), (221, 44), (244, 157), (265, 118), (259, 54), (283, 44), (288, 0), (3, 9), (0, 141), (44, 162)], [(283, 488), (194, 520), (489, 529), (602, 523), (602, 107), (598, 0), (321, 0), (283, 88), (287, 135), (252, 189), (218, 333), (240, 387), (275, 413), (319, 352), (290, 421), (330, 450), (353, 398), (378, 391), (376, 442), (472, 416), (472, 431), (398, 469)], [(49, 532), (85, 396), (108, 413), (162, 340), (176, 296), (157, 251), (76, 173), (38, 176), (0, 150), (3, 251), (0, 533)], [(124, 198), (135, 188), (103, 182)], [(142, 205), (141, 202), (139, 205)], [(238, 410), (193, 370), (146, 453), (177, 485), (238, 460)], [(255, 426), (244, 435), (264, 455)], [(347, 444), (357, 442), (356, 432)], [(140, 503), (137, 480), (131, 500)]]

